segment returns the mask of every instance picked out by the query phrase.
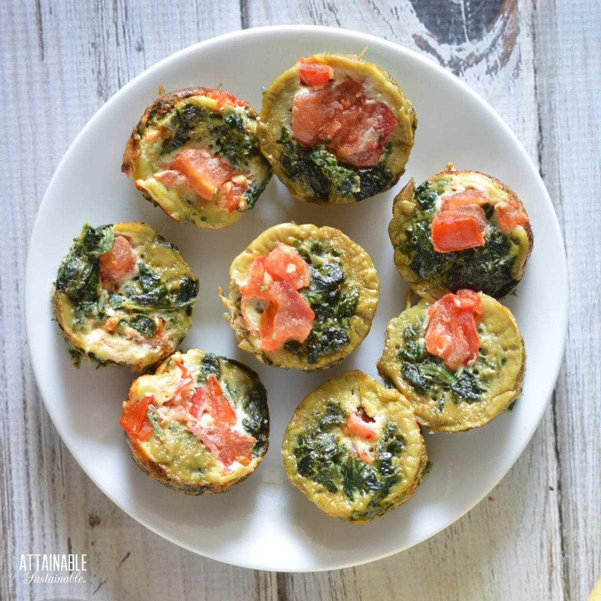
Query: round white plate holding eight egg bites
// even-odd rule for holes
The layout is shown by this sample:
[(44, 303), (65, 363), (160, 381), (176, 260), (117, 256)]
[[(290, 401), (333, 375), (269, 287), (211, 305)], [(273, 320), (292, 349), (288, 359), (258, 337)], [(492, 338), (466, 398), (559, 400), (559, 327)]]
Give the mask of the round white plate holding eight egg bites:
[[(121, 153), (145, 106), (165, 90), (217, 87), (261, 105), (261, 87), (299, 56), (322, 50), (361, 52), (400, 83), (419, 124), (407, 173), (392, 191), (353, 206), (319, 207), (294, 200), (274, 177), (257, 207), (227, 230), (171, 221), (143, 200), (121, 174)], [(523, 397), (512, 413), (469, 433), (426, 436), (432, 471), (413, 497), (384, 520), (350, 525), (320, 513), (284, 474), (279, 446), (297, 403), (344, 370), (377, 376), (386, 323), (406, 291), (392, 261), (386, 228), (392, 198), (410, 176), (418, 182), (452, 160), (460, 169), (495, 175), (517, 192), (535, 234), (534, 252), (514, 311), (528, 350)], [(266, 367), (237, 349), (222, 319), (216, 288), (228, 267), (261, 231), (279, 222), (333, 225), (364, 246), (382, 281), (380, 303), (364, 343), (337, 368), (306, 374)], [(268, 391), (271, 447), (257, 472), (227, 495), (175, 494), (147, 477), (129, 457), (118, 425), (133, 375), (126, 370), (75, 370), (51, 321), (49, 291), (61, 258), (86, 221), (145, 221), (177, 243), (201, 278), (194, 325), (183, 348), (201, 347), (257, 370)], [(41, 203), (26, 270), (25, 315), (32, 365), (50, 417), (92, 480), (136, 520), (206, 557), (265, 570), (325, 570), (386, 557), (432, 536), (475, 505), (522, 453), (557, 377), (567, 322), (567, 270), (549, 195), (517, 138), (473, 91), (429, 60), (358, 32), (309, 26), (249, 29), (204, 41), (161, 61), (106, 103), (73, 142)]]

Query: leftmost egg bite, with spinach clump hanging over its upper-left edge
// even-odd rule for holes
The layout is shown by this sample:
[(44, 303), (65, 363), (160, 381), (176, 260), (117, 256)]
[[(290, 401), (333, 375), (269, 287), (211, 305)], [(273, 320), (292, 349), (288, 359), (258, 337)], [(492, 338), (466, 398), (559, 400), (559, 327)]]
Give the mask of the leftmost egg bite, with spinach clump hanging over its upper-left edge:
[(58, 269), (52, 306), (81, 358), (141, 371), (171, 355), (192, 325), (198, 278), (149, 225), (85, 224)]

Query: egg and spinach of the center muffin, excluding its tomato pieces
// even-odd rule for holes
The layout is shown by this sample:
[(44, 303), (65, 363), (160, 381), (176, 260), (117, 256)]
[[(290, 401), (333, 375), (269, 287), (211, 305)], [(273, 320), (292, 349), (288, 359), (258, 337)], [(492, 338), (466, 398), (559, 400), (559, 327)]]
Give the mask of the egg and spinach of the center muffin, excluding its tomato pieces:
[[(260, 331), (272, 310), (270, 302), (252, 295), (247, 299), (240, 288), (248, 285), (257, 259), (263, 260), (274, 249), (302, 257), (297, 258), (310, 275), (297, 287), (297, 298), (314, 319), (304, 340), (290, 338), (275, 349), (265, 349)], [(221, 289), (219, 293), (238, 346), (267, 365), (305, 371), (336, 365), (365, 338), (376, 314), (380, 282), (371, 258), (340, 230), (328, 226), (274, 225), (232, 261), (230, 278), (229, 295)], [(260, 288), (269, 290), (269, 285)]]

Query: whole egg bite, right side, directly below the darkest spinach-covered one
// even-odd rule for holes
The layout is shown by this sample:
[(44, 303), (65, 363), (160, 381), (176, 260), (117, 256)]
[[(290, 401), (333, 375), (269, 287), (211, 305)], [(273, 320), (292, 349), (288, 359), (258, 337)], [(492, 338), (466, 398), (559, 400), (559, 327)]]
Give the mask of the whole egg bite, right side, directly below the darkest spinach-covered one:
[(522, 392), (526, 351), (507, 307), (481, 292), (421, 299), (386, 328), (377, 368), (411, 401), (420, 424), (459, 432), (484, 426)]

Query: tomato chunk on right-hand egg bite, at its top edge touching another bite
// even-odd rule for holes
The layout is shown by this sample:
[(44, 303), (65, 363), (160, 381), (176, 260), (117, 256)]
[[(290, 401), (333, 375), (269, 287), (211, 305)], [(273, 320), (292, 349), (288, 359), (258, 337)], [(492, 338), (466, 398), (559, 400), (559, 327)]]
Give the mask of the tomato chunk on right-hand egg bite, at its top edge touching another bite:
[(427, 351), (453, 370), (473, 365), (480, 350), (476, 320), (483, 313), (482, 301), (473, 290), (445, 294), (428, 309)]

